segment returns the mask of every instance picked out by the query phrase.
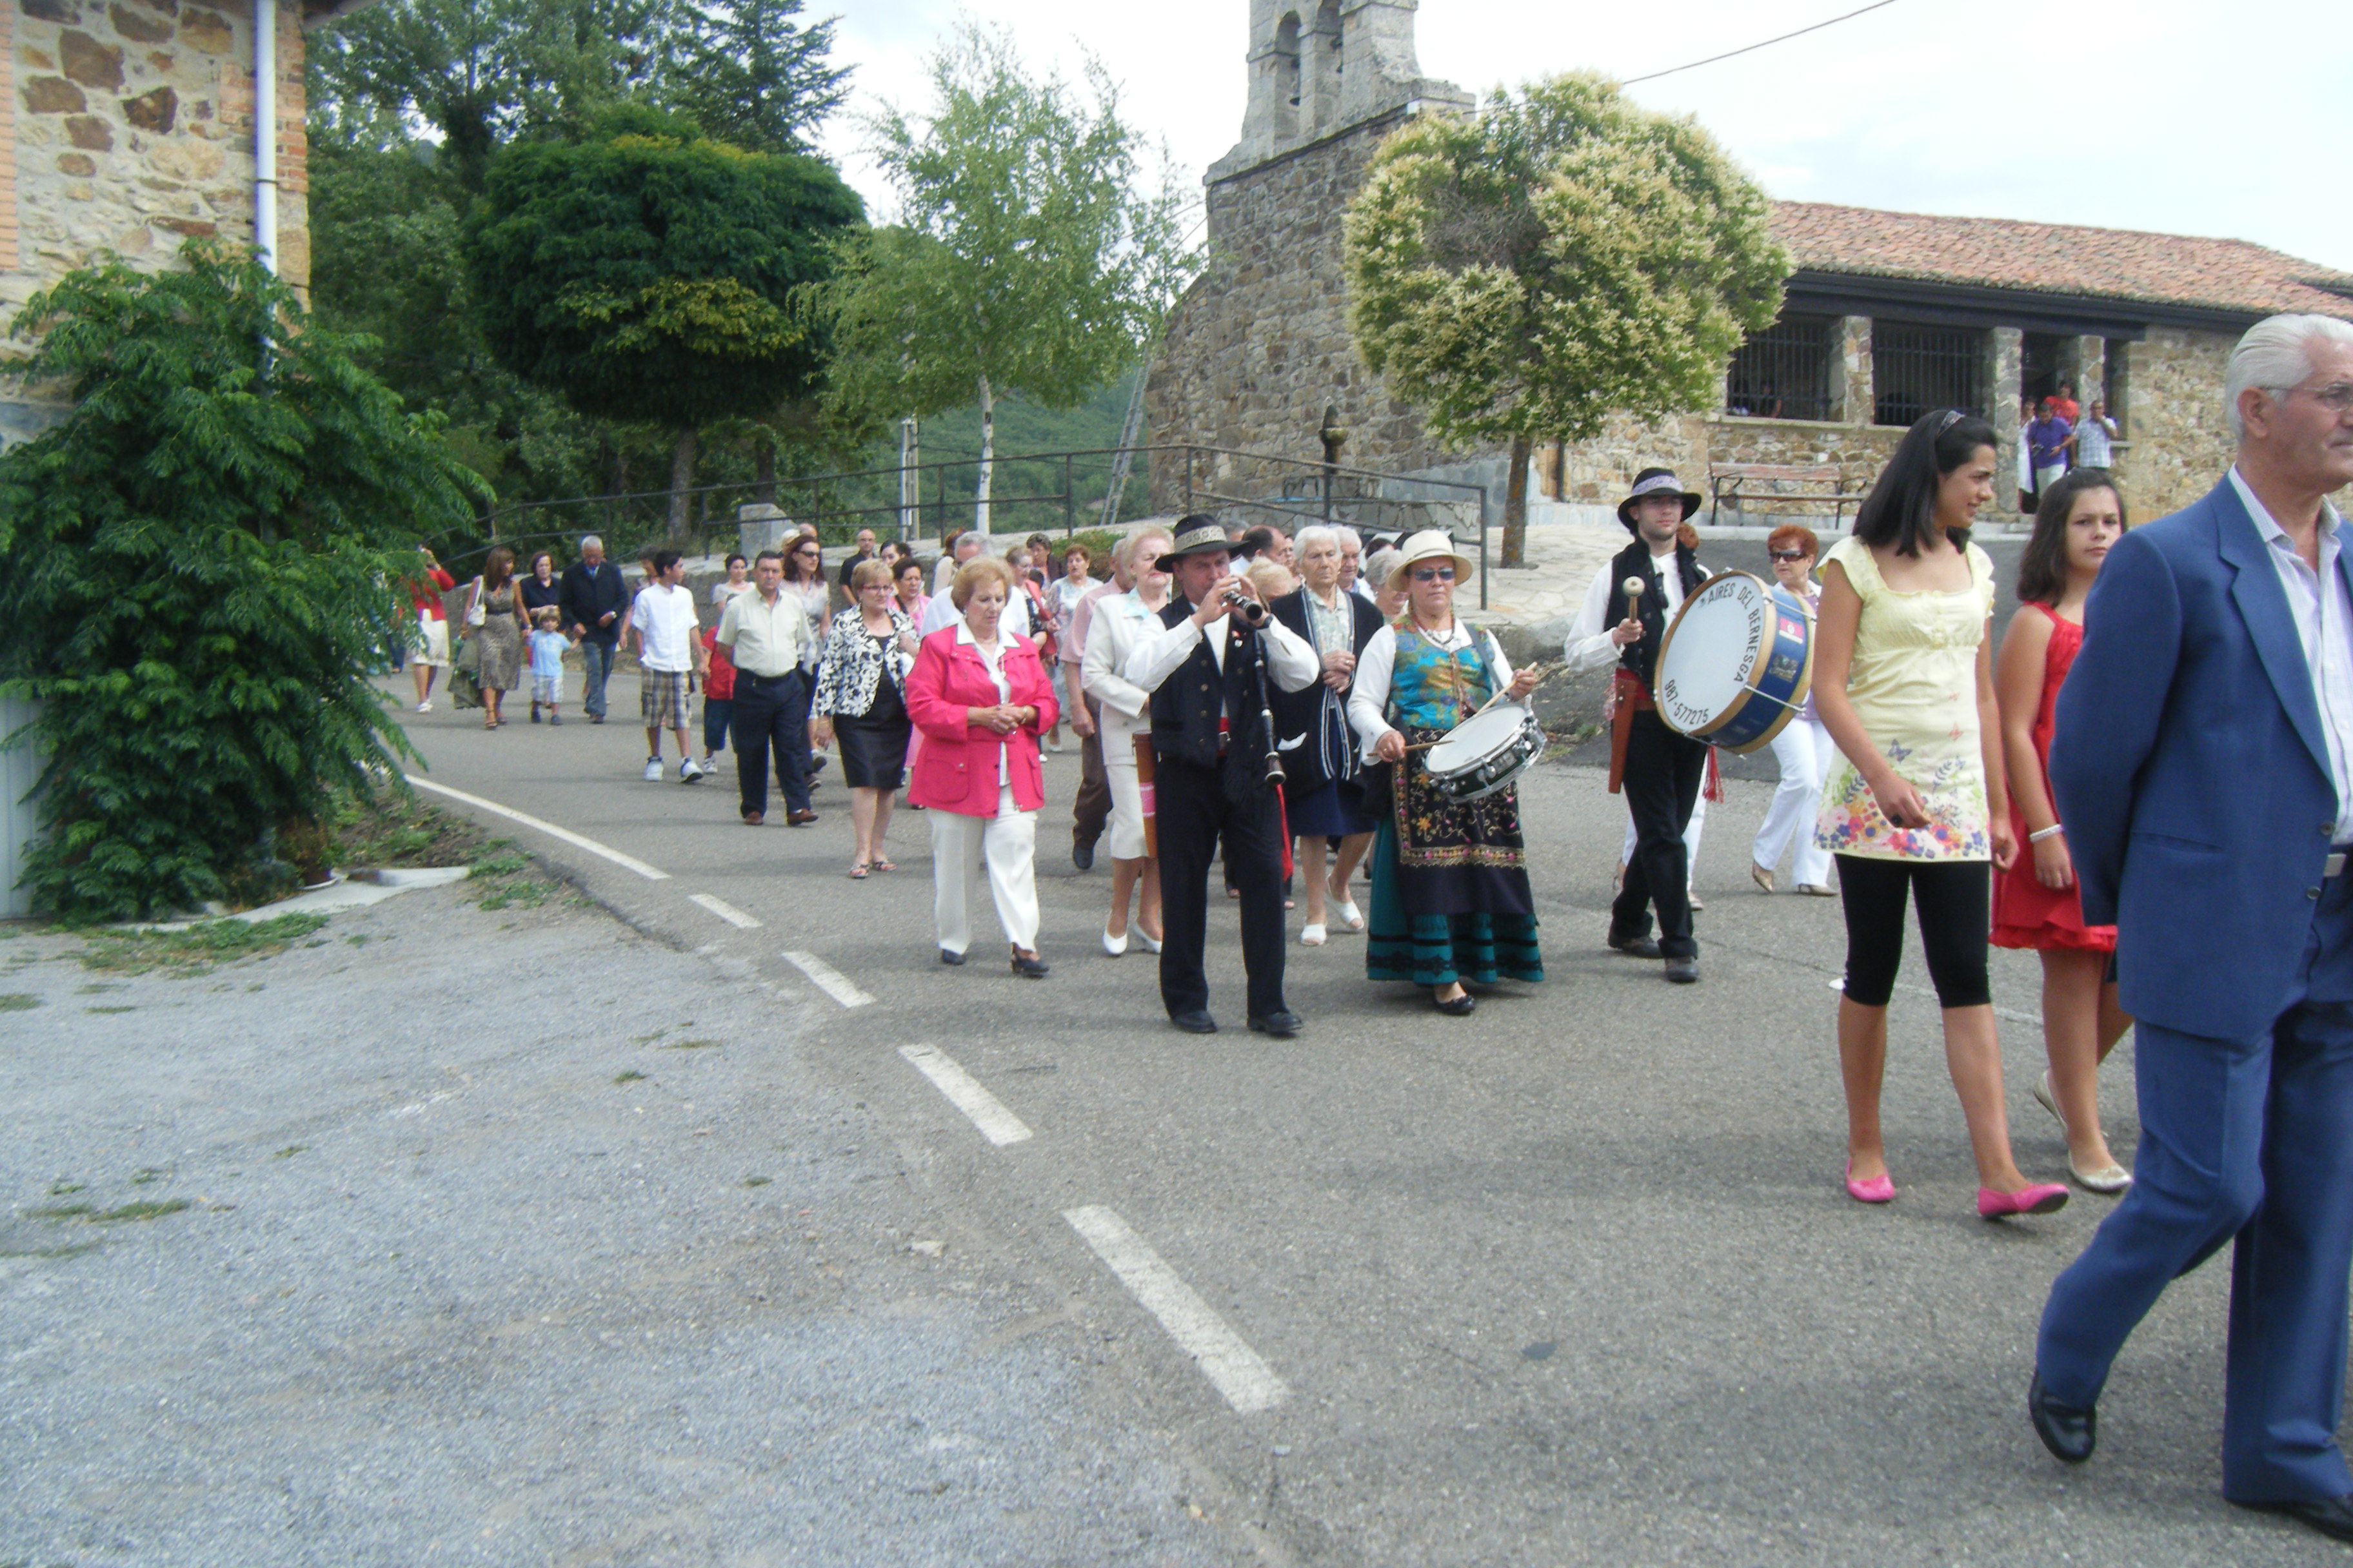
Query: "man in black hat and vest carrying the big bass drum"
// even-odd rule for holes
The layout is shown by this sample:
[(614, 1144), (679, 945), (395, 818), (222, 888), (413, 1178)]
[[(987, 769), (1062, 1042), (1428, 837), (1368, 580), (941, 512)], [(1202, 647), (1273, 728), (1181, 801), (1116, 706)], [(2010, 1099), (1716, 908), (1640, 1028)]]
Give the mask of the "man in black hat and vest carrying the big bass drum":
[[(1699, 494), (1682, 489), (1671, 468), (1645, 468), (1619, 501), (1619, 522), (1633, 543), (1593, 574), (1584, 609), (1569, 625), (1567, 663), (1574, 672), (1617, 665), (1609, 722), (1609, 792), (1626, 790), (1635, 849), (1626, 886), (1609, 905), (1609, 945), (1640, 959), (1666, 959), (1668, 980), (1699, 978), (1692, 938), (1692, 865), (1682, 830), (1692, 825), (1708, 748), (1678, 736), (1649, 701), (1659, 642), (1685, 595), (1706, 578), (1692, 550), (1678, 543), (1682, 522), (1699, 510)], [(1640, 592), (1628, 592), (1638, 585)], [(1659, 936), (1652, 938), (1652, 905)]]

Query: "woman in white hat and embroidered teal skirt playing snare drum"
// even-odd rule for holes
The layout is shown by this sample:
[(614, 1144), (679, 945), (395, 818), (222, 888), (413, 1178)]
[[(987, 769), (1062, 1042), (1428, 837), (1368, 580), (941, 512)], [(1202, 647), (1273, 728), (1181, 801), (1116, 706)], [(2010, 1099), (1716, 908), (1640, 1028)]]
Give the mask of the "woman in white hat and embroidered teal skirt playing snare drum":
[(1468, 576), (1445, 534), (1407, 538), (1388, 574), (1407, 595), (1405, 616), (1372, 635), (1348, 691), (1348, 722), (1393, 780), (1372, 842), (1365, 973), (1428, 985), (1454, 1018), (1473, 1009), (1464, 980), (1544, 978), (1518, 788), (1452, 802), (1431, 788), (1419, 750), (1489, 696), (1518, 701), (1537, 686), (1534, 670), (1513, 675), (1494, 637), (1454, 618), (1454, 583)]

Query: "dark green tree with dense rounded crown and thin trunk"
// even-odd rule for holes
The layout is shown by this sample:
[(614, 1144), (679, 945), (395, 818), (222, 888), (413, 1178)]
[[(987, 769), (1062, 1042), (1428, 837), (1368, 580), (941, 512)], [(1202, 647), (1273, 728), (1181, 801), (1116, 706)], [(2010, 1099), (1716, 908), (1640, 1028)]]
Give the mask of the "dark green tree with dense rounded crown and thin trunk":
[(489, 165), (466, 266), (489, 353), (581, 414), (673, 433), (685, 536), (701, 425), (816, 390), (824, 331), (795, 308), (864, 205), (831, 165), (744, 153), (647, 108)]

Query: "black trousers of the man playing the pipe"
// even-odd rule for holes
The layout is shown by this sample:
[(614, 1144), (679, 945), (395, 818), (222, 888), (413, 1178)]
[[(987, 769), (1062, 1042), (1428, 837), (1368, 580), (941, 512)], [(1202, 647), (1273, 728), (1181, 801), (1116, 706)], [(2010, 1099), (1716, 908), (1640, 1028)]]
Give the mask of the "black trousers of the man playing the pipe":
[(1209, 863), (1219, 837), (1242, 891), (1242, 969), (1249, 1016), (1282, 1006), (1282, 827), (1275, 792), (1254, 790), (1233, 804), (1217, 769), (1162, 755), (1155, 766), (1155, 837), (1160, 839), (1160, 1001), (1169, 1016), (1209, 1006), (1202, 945), (1209, 926)]

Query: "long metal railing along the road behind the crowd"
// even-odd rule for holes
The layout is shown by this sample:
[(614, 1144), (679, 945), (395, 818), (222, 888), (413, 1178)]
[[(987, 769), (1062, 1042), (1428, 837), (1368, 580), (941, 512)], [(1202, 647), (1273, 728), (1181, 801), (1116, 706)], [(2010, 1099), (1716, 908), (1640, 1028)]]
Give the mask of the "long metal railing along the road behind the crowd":
[[(1487, 487), (1464, 480), (1421, 480), (1414, 475), (1351, 468), (1318, 458), (1289, 458), (1235, 447), (1132, 444), (1082, 451), (1040, 451), (1000, 456), (991, 477), (991, 536), (1052, 534), (1064, 536), (1101, 527), (1101, 503), (1113, 484), (1118, 458), (1151, 463), (1153, 489), (1176, 501), (1179, 512), (1214, 512), (1226, 522), (1273, 522), (1297, 531), (1308, 522), (1344, 522), (1360, 534), (1405, 534), (1438, 527), (1464, 538), (1478, 534), (1480, 609), (1487, 607)], [(901, 480), (913, 475), (911, 491)], [(584, 534), (605, 541), (609, 559), (633, 559), (647, 545), (668, 545), (689, 555), (720, 555), (736, 548), (736, 508), (774, 505), (786, 524), (814, 524), (826, 543), (847, 543), (859, 529), (878, 538), (939, 538), (951, 527), (972, 527), (979, 458), (939, 458), (929, 463), (859, 468), (828, 475), (776, 477), (772, 482), (736, 480), (699, 484), (685, 491), (689, 524), (685, 538), (671, 534), (671, 491), (626, 491), (612, 496), (569, 496), (499, 508), (466, 529), (480, 543), (445, 552), (445, 567), (478, 562), (494, 545), (515, 550), (518, 571), (527, 571), (536, 550), (553, 550), (560, 562), (572, 557)], [(901, 496), (913, 494), (906, 505)], [(1148, 512), (1129, 508), (1129, 522)]]

